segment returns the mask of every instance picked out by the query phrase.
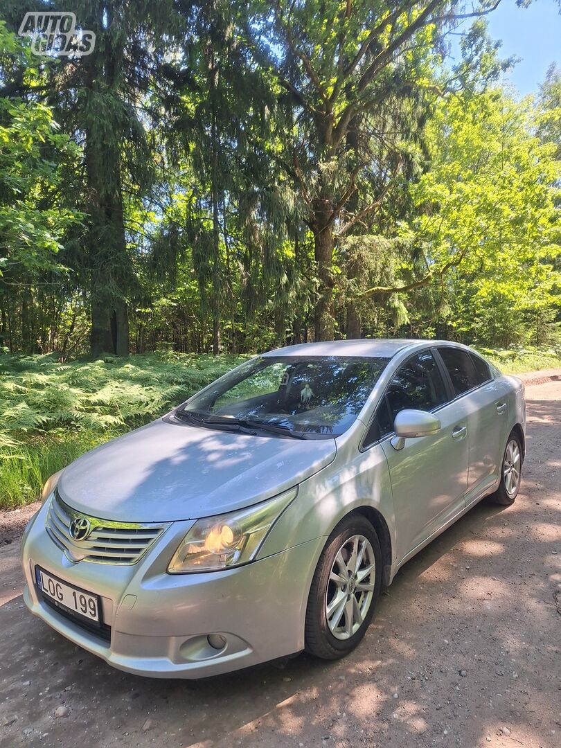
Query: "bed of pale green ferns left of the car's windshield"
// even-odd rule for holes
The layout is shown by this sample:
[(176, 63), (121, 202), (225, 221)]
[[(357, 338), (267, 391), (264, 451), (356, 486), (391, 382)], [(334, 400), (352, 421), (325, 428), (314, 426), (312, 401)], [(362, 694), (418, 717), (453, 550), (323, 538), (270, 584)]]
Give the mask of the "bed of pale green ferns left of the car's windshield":
[(0, 358), (0, 438), (31, 432), (103, 432), (141, 426), (230, 370), (224, 355), (138, 355), (60, 364), (52, 356)]

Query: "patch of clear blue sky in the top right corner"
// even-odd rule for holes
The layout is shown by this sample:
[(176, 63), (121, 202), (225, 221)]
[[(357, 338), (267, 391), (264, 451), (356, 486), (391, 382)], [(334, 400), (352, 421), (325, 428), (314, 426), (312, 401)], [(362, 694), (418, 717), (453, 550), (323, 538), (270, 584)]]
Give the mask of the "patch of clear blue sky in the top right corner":
[(552, 62), (561, 67), (561, 15), (555, 0), (534, 0), (527, 8), (501, 0), (486, 19), (491, 37), (503, 40), (501, 56), (522, 58), (506, 76), (521, 96), (537, 91)]

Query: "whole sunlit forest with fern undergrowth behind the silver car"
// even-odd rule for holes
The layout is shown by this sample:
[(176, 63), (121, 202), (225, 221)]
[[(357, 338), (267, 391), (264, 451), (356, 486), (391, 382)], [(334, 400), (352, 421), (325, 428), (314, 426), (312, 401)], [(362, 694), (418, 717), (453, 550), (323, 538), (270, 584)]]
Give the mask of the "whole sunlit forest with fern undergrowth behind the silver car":
[(275, 346), (559, 361), (561, 71), (505, 84), (497, 4), (74, 0), (66, 56), (2, 4), (4, 498)]

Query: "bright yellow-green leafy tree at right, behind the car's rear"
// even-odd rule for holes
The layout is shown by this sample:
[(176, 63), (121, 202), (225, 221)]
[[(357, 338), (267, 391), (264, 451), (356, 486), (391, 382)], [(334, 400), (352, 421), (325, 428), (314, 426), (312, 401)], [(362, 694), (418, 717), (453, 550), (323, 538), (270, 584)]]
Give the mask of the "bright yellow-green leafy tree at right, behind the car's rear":
[(547, 342), (534, 322), (560, 301), (561, 163), (536, 135), (540, 118), (533, 99), (490, 90), (444, 99), (430, 125), (432, 168), (412, 188), (418, 215), (403, 233), (431, 272), (447, 270), (453, 337)]

